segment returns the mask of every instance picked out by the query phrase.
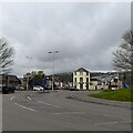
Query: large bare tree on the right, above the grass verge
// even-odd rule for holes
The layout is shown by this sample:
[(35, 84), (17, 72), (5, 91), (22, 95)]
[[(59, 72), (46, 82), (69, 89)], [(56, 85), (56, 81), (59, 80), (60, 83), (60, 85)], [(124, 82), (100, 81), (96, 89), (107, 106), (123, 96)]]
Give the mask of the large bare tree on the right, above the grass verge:
[(122, 39), (121, 45), (113, 53), (113, 66), (124, 73), (131, 72), (131, 82), (133, 83), (133, 30), (126, 31)]

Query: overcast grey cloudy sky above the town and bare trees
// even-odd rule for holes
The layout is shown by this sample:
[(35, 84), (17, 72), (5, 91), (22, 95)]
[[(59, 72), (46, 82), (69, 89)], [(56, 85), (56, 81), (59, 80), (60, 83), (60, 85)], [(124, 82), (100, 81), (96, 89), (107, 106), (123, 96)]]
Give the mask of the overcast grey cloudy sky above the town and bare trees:
[[(13, 74), (43, 70), (55, 73), (81, 66), (111, 71), (112, 52), (130, 29), (130, 3), (3, 3), (2, 35), (16, 50)], [(32, 59), (27, 59), (31, 57)]]

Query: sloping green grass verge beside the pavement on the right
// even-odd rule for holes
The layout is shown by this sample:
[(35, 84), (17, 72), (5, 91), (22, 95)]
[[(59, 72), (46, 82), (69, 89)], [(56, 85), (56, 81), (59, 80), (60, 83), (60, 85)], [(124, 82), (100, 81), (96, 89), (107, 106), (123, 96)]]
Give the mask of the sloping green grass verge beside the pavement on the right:
[(129, 89), (119, 89), (119, 90), (104, 90), (100, 93), (89, 94), (92, 98), (123, 101), (123, 102), (133, 102), (133, 88)]

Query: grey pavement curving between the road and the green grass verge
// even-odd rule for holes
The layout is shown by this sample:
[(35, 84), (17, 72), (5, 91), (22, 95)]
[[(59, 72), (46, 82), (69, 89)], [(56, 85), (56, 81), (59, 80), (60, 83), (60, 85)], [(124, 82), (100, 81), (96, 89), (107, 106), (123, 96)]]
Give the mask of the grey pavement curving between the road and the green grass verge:
[(103, 100), (103, 99), (96, 99), (96, 98), (90, 98), (89, 93), (98, 93), (92, 91), (79, 91), (74, 92), (70, 95), (69, 99), (74, 99), (83, 102), (90, 102), (90, 103), (96, 103), (96, 104), (103, 104), (103, 105), (112, 105), (112, 106), (120, 106), (120, 108), (126, 108), (131, 109), (131, 104), (133, 106), (133, 103), (131, 102), (121, 102), (121, 101), (111, 101), (111, 100)]

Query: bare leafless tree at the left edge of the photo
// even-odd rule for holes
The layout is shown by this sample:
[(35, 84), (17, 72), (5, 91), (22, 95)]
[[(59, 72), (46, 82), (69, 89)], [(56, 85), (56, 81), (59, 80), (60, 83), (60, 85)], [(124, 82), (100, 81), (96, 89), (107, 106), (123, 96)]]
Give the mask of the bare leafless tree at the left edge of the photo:
[(14, 50), (4, 38), (0, 39), (0, 74), (9, 73), (13, 64)]

